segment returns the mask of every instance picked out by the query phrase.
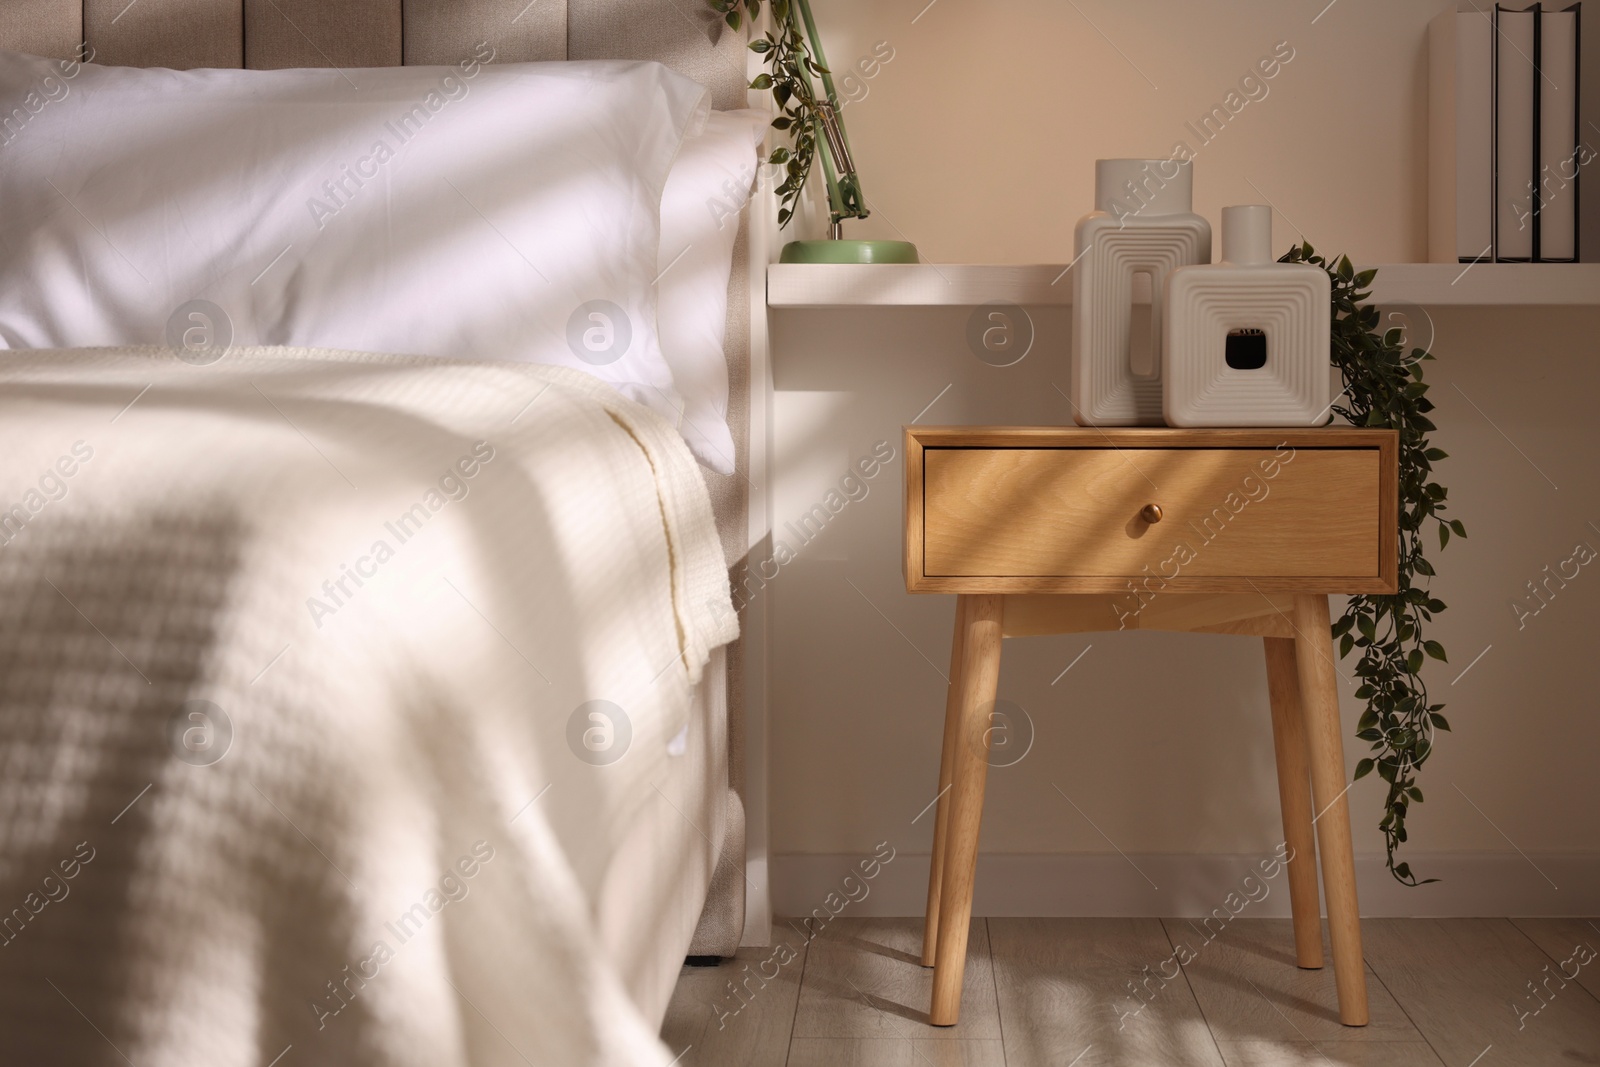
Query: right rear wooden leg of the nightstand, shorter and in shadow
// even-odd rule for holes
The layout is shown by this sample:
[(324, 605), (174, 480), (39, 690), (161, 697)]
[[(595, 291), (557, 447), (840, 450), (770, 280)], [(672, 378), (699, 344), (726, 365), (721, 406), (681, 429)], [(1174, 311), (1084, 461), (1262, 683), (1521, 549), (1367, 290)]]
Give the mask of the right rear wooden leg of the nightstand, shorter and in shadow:
[(1310, 765), (1306, 757), (1306, 720), (1301, 717), (1294, 641), (1264, 638), (1267, 693), (1272, 697), (1272, 747), (1278, 757), (1278, 805), (1288, 845), (1290, 909), (1294, 912), (1294, 960), (1322, 966), (1322, 907), (1317, 901), (1317, 843), (1312, 837)]

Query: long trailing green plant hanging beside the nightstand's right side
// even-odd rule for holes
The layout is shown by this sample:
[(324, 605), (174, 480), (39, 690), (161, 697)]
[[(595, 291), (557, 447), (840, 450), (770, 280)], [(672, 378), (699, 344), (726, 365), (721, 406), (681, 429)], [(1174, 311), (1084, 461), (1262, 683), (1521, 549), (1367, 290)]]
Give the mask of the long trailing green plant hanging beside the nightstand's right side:
[(1411, 347), (1405, 331), (1379, 331), (1378, 307), (1366, 302), (1378, 270), (1357, 272), (1349, 256), (1330, 262), (1310, 243), (1291, 248), (1280, 262), (1302, 262), (1328, 272), (1333, 282), (1333, 363), (1339, 368), (1344, 392), (1333, 411), (1354, 426), (1398, 430), (1400, 435), (1400, 566), (1394, 593), (1350, 597), (1344, 614), (1333, 624), (1339, 657), (1360, 649), (1355, 696), (1366, 701), (1357, 723), (1357, 737), (1371, 744), (1371, 757), (1355, 765), (1355, 777), (1371, 771), (1389, 785), (1384, 833), (1389, 872), (1405, 885), (1424, 885), (1411, 865), (1395, 862), (1395, 849), (1406, 840), (1406, 813), (1422, 803), (1418, 771), (1434, 752), (1434, 731), (1450, 729), (1440, 713), (1443, 704), (1429, 704), (1422, 665), (1429, 657), (1443, 661), (1445, 648), (1422, 635), (1424, 624), (1445, 609), (1445, 601), (1429, 592), (1434, 566), (1424, 553), (1424, 530), (1438, 530), (1438, 547), (1451, 534), (1466, 537), (1459, 518), (1445, 518), (1448, 490), (1434, 480), (1434, 464), (1446, 454), (1429, 443), (1435, 430), (1427, 413), (1422, 365), (1432, 352)]

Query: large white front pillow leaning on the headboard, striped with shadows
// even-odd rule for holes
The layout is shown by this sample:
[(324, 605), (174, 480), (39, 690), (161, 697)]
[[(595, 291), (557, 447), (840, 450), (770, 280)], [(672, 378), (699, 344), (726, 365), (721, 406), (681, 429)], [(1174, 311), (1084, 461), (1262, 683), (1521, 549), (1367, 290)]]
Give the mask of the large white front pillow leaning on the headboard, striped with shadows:
[(0, 53), (0, 346), (173, 342), (206, 362), (230, 334), (555, 363), (675, 421), (659, 205), (706, 90), (653, 62), (493, 58), (146, 70)]

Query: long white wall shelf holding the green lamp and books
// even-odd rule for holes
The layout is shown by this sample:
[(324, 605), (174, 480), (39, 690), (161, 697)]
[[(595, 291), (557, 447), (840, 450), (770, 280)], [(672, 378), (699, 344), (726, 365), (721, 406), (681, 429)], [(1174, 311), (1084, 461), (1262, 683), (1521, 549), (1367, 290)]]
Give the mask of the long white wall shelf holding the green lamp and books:
[[(1358, 264), (1360, 266), (1360, 264)], [(1024, 307), (1072, 304), (1066, 264), (773, 264), (770, 307)], [(1424, 307), (1600, 307), (1600, 264), (1379, 264), (1379, 304)]]

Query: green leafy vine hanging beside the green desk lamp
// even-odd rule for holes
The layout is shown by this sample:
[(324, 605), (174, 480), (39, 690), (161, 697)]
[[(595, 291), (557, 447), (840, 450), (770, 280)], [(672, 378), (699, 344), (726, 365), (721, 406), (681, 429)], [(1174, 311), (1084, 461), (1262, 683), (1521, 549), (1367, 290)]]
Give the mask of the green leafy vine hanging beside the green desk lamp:
[[(789, 134), (789, 147), (776, 147), (768, 157), (768, 163), (784, 168), (784, 181), (778, 186), (778, 226), (789, 226), (795, 213), (795, 200), (805, 189), (811, 176), (811, 163), (816, 160), (819, 128), (819, 107), (827, 107), (827, 99), (818, 99), (813, 75), (827, 77), (830, 72), (819, 56), (811, 54), (811, 43), (806, 37), (808, 27), (803, 24), (806, 13), (794, 0), (770, 0), (773, 8), (773, 30), (750, 42), (750, 51), (766, 58), (771, 74), (762, 74), (750, 82), (752, 90), (771, 90), (773, 102), (778, 106), (778, 117), (773, 128)], [(762, 0), (706, 0), (707, 5), (733, 29), (744, 26), (744, 18), (752, 22), (762, 14)], [(843, 189), (846, 200), (859, 197), (851, 187)], [(850, 205), (859, 210), (859, 203)], [(864, 211), (859, 213), (866, 216)]]

